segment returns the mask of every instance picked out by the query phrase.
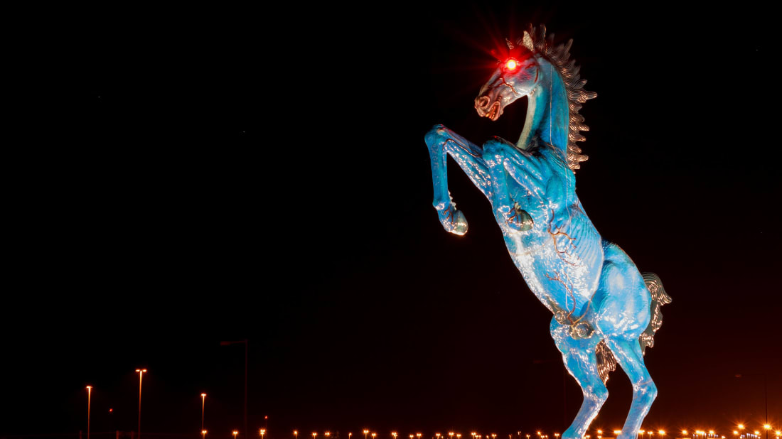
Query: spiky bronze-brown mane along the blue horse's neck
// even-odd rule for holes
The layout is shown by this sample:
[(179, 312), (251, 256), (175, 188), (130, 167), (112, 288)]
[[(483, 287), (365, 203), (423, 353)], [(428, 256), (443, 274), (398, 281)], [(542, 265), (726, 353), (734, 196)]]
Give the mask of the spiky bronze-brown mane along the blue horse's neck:
[(587, 80), (579, 76), (580, 67), (576, 66), (576, 60), (570, 59), (570, 46), (573, 44), (572, 38), (564, 45), (554, 46), (554, 34), (546, 38), (546, 27), (543, 24), (540, 27), (529, 26), (525, 36), (518, 38), (517, 45), (524, 45), (532, 52), (543, 56), (551, 65), (557, 69), (559, 76), (565, 83), (565, 91), (568, 95), (569, 107), (569, 125), (568, 125), (568, 151), (566, 153), (568, 167), (571, 170), (581, 168), (580, 162), (589, 159), (587, 155), (581, 154), (581, 148), (576, 145), (577, 141), (584, 141), (584, 137), (579, 131), (588, 131), (589, 127), (584, 122), (584, 116), (579, 114), (582, 104), (587, 99), (597, 97), (594, 91), (583, 89)]

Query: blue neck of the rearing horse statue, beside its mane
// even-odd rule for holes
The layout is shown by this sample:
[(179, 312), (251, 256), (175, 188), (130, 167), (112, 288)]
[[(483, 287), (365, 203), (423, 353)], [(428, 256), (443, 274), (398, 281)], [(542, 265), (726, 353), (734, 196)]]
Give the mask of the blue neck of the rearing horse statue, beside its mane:
[(540, 55), (536, 55), (536, 59), (540, 66), (540, 77), (529, 95), (524, 130), (516, 145), (527, 149), (533, 137), (537, 136), (541, 141), (560, 149), (566, 156), (570, 113), (565, 83), (550, 62)]

